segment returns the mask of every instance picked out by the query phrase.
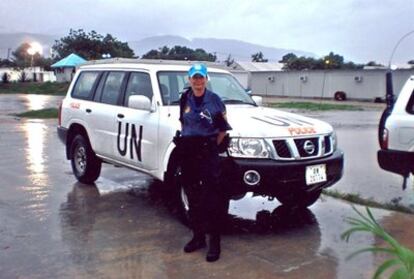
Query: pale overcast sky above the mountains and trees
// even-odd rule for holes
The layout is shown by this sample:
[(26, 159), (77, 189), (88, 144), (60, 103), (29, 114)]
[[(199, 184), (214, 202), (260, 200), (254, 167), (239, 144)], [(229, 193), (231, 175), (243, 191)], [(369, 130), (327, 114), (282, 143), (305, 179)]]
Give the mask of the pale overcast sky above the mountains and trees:
[[(2, 0), (0, 33), (110, 33), (125, 41), (154, 35), (238, 39), (346, 60), (387, 63), (414, 30), (414, 0)], [(393, 63), (414, 59), (414, 34)]]

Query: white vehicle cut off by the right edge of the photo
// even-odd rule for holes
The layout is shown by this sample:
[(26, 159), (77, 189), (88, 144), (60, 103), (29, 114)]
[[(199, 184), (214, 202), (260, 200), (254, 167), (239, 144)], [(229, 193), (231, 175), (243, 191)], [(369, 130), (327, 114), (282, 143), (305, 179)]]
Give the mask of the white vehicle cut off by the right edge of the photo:
[[(392, 84), (387, 88), (392, 88)], [(392, 92), (389, 94), (393, 95)], [(414, 172), (414, 76), (407, 80), (397, 101), (391, 101), (384, 111), (379, 125), (379, 142), (381, 168), (404, 178)]]

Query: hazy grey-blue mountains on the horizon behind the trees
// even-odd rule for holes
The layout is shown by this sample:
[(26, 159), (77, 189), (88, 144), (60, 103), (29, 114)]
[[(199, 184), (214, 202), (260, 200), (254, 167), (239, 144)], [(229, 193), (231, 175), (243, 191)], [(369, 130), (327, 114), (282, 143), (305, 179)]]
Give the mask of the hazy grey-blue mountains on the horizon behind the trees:
[[(14, 51), (23, 42), (37, 41), (43, 45), (43, 54), (48, 57), (55, 40), (62, 36), (33, 34), (33, 33), (3, 33), (0, 34), (0, 58), (11, 57)], [(230, 54), (236, 61), (250, 61), (251, 55), (261, 51), (264, 58), (269, 61), (278, 61), (283, 55), (293, 52), (297, 56), (315, 56), (315, 54), (303, 50), (282, 49), (276, 47), (252, 44), (233, 39), (217, 38), (193, 38), (186, 39), (181, 36), (152, 36), (140, 40), (128, 41), (128, 45), (135, 52), (135, 55), (142, 56), (151, 49), (158, 49), (163, 46), (173, 47), (176, 45), (186, 46), (192, 49), (202, 48), (207, 52), (215, 53), (219, 61), (225, 60)]]

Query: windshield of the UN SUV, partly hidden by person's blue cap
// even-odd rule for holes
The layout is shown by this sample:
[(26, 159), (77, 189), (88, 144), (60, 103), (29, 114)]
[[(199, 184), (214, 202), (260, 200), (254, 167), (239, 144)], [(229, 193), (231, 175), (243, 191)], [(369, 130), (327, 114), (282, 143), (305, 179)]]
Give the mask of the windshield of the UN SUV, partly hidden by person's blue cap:
[[(225, 104), (255, 105), (232, 75), (209, 73), (208, 78), (207, 89), (219, 95)], [(187, 72), (158, 72), (158, 84), (164, 105), (178, 104), (180, 93), (190, 86)]]

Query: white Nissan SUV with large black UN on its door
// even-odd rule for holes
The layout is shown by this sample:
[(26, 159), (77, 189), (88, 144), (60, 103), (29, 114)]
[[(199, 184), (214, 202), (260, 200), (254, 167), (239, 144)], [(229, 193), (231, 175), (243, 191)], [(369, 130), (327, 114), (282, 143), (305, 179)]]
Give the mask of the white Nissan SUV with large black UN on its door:
[[(172, 140), (189, 65), (115, 59), (80, 67), (58, 127), (80, 182), (93, 183), (102, 162), (122, 165), (166, 182), (186, 208)], [(231, 197), (250, 191), (306, 207), (341, 178), (343, 153), (329, 124), (259, 106), (261, 97), (250, 97), (225, 70), (209, 67), (207, 87), (226, 104), (233, 128), (220, 155)]]

